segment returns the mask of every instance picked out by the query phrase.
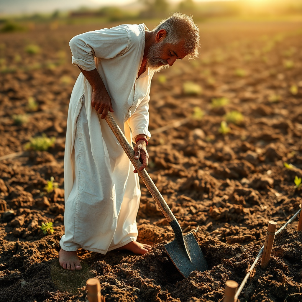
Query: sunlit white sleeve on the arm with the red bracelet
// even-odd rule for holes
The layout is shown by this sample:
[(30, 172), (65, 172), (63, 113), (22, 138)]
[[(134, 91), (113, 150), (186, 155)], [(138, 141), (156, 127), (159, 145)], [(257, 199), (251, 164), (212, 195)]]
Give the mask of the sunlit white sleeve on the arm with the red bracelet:
[(145, 134), (147, 139), (151, 137), (148, 131), (149, 127), (149, 100), (150, 100), (150, 85), (146, 97), (140, 102), (134, 113), (129, 118), (129, 125), (132, 131), (132, 140), (139, 134)]

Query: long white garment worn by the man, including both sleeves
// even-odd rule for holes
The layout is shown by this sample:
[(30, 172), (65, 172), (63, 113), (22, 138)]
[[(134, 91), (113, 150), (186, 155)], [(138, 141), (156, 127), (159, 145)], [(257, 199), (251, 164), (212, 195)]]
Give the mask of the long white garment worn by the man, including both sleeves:
[[(138, 71), (145, 25), (120, 25), (70, 40), (72, 63), (97, 68), (111, 97), (112, 116), (127, 140), (149, 138), (149, 92), (153, 76)], [(105, 254), (136, 240), (140, 202), (138, 175), (105, 120), (91, 105), (92, 87), (81, 73), (69, 103), (64, 158), (65, 234), (60, 246)]]

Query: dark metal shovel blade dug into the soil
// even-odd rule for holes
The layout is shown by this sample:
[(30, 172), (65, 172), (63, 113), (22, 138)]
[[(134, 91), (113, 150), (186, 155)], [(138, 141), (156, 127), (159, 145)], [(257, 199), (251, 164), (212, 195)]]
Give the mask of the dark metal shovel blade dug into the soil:
[(204, 254), (194, 235), (192, 233), (185, 235), (183, 236), (183, 240), (186, 249), (176, 239), (164, 245), (166, 252), (178, 271), (185, 278), (188, 278), (190, 273), (195, 270), (207, 271), (207, 260), (204, 258)]

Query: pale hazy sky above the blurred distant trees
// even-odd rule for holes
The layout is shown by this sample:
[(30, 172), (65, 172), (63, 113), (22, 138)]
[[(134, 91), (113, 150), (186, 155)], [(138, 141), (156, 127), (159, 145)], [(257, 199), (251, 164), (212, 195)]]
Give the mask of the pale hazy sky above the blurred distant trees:
[[(33, 14), (41, 12), (53, 12), (55, 10), (66, 11), (82, 6), (98, 8), (106, 5), (124, 6), (138, 0), (0, 0), (0, 16), (7, 14)], [(180, 0), (168, 0), (180, 2)], [(195, 0), (211, 1), (211, 0)]]

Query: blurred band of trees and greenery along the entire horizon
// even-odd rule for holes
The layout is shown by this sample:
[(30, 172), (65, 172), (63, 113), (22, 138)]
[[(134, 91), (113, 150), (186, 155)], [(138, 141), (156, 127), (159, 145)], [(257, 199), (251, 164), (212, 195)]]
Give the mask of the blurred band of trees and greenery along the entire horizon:
[[(135, 1), (135, 0), (133, 0)], [(195, 21), (212, 17), (228, 16), (278, 16), (282, 14), (302, 14), (302, 0), (233, 0), (233, 1), (204, 1), (181, 0), (172, 3), (171, 0), (136, 0), (123, 7), (106, 6), (99, 9), (82, 7), (68, 14), (54, 11), (52, 14), (24, 15), (18, 18), (0, 18), (0, 32), (26, 30), (24, 22), (48, 23), (77, 22), (77, 19), (102, 18), (103, 21), (131, 21), (137, 19), (167, 18), (169, 14), (179, 11), (183, 14), (193, 15)], [(80, 20), (79, 20), (80, 21)], [(23, 22), (23, 23), (22, 23)], [(20, 24), (21, 25), (20, 25)]]

